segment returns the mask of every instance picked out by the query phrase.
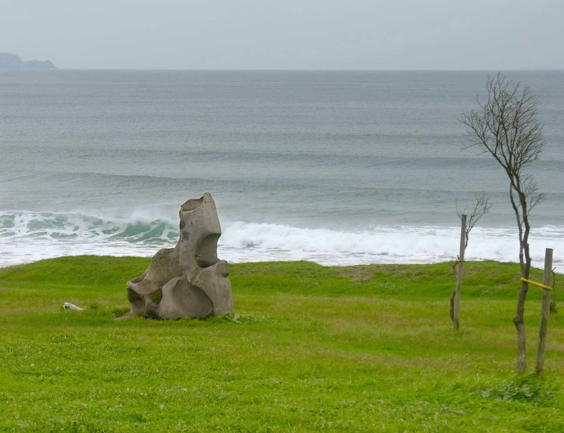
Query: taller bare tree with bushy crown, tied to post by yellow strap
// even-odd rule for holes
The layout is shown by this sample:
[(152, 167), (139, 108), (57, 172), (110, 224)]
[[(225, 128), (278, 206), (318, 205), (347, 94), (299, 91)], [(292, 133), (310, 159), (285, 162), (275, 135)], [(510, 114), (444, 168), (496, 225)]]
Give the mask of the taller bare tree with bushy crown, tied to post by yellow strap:
[[(479, 110), (462, 114), (461, 121), (468, 126), (467, 147), (477, 146), (491, 154), (503, 167), (509, 178), (509, 200), (515, 212), (519, 229), (519, 263), (521, 276), (528, 279), (531, 269), (528, 237), (531, 231), (531, 210), (544, 198), (537, 192), (532, 176), (523, 170), (535, 161), (543, 150), (544, 125), (537, 120), (538, 98), (528, 87), (513, 83), (498, 73), (488, 74), (488, 98)], [(521, 282), (517, 311), (513, 317), (517, 328), (517, 369), (525, 372), (527, 366), (525, 324), (523, 311), (528, 285)]]

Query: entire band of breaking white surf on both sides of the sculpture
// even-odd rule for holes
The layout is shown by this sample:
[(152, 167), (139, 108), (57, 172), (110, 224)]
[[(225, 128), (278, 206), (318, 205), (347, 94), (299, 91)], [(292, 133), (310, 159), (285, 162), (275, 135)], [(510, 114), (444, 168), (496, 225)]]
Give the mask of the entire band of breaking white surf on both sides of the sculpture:
[[(340, 232), (280, 224), (223, 222), (219, 256), (230, 262), (311, 260), (321, 264), (431, 263), (456, 257), (460, 228), (371, 226)], [(63, 255), (151, 256), (178, 240), (177, 222), (155, 215), (106, 218), (83, 214), (0, 212), (0, 266)], [(564, 226), (531, 233), (534, 266), (554, 249), (564, 271)], [(475, 227), (466, 259), (518, 260), (513, 228)]]

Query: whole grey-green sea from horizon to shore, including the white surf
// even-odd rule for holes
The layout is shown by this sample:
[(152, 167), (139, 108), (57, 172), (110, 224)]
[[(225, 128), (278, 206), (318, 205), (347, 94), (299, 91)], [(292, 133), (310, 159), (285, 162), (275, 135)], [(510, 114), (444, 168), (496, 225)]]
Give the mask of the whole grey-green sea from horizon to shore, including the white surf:
[[(564, 271), (564, 72), (507, 72), (540, 97), (547, 200), (531, 250)], [(210, 192), (230, 262), (456, 257), (459, 207), (493, 202), (469, 259), (518, 260), (508, 180), (462, 150), (487, 72), (0, 71), (0, 266), (151, 256)]]

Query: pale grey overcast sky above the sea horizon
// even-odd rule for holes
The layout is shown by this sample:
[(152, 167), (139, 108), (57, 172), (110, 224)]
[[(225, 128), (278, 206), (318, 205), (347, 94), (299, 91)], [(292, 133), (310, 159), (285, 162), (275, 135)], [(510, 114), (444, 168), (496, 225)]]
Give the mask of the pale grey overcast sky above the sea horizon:
[(0, 0), (69, 69), (564, 69), (564, 0)]

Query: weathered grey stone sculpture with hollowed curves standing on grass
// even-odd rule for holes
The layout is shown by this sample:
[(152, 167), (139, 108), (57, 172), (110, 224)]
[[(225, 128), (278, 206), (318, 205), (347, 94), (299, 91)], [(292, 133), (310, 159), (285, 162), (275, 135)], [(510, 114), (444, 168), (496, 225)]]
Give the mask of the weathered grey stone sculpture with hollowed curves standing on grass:
[(192, 319), (233, 312), (226, 260), (217, 258), (221, 227), (206, 192), (180, 206), (180, 238), (174, 248), (155, 254), (147, 271), (127, 281), (131, 311), (155, 319)]

